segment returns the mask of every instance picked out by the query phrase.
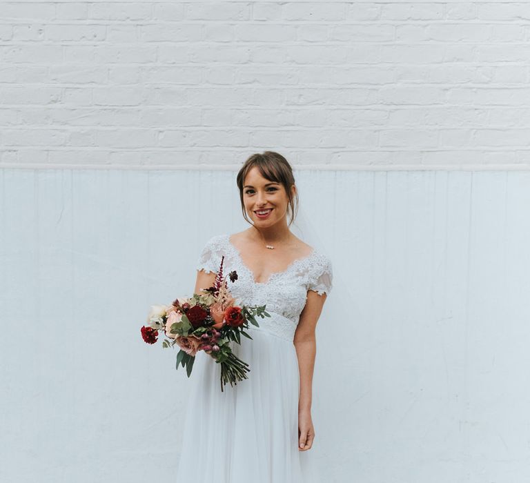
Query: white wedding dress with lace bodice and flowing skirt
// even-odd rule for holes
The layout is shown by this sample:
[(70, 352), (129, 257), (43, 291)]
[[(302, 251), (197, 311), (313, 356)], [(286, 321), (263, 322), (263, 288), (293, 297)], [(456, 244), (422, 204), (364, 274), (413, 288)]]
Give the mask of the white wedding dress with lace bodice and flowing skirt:
[[(182, 433), (177, 483), (315, 482), (313, 449), (298, 449), (300, 375), (293, 337), (307, 290), (322, 295), (332, 287), (330, 259), (313, 249), (267, 282), (255, 282), (230, 235), (206, 242), (197, 270), (237, 272), (228, 288), (237, 306), (266, 305), (271, 317), (249, 324), (253, 340), (230, 342), (250, 367), (248, 379), (221, 391), (220, 366), (204, 351), (195, 357)], [(317, 426), (313, 419), (313, 424)]]

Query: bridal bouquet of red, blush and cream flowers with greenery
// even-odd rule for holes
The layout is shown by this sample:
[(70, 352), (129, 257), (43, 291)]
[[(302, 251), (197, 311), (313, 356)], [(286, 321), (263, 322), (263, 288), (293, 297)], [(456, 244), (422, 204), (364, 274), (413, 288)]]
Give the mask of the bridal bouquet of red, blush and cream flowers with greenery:
[[(159, 332), (166, 335), (162, 347), (179, 346), (177, 369), (179, 364), (186, 366), (190, 377), (195, 355), (204, 351), (217, 364), (221, 364), (221, 391), (227, 382), (230, 386), (237, 381), (247, 379), (250, 371), (248, 364), (237, 357), (229, 346), (230, 341), (241, 344), (241, 335), (252, 339), (244, 331), (248, 322), (259, 327), (255, 316), (271, 317), (266, 306), (235, 306), (226, 277), (223, 277), (224, 256), (215, 277), (215, 283), (204, 290), (206, 293), (194, 293), (190, 298), (179, 297), (170, 306), (154, 305), (148, 316), (148, 325), (141, 327), (141, 336), (147, 344), (155, 344)], [(228, 273), (232, 282), (237, 280), (237, 272)]]

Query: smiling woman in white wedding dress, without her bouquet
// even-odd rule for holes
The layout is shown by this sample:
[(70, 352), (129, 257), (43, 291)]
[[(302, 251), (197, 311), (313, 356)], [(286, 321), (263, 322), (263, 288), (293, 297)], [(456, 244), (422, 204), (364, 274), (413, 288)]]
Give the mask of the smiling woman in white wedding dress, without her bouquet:
[(257, 317), (259, 327), (250, 324), (253, 340), (230, 342), (251, 370), (224, 392), (219, 364), (197, 353), (177, 483), (308, 483), (315, 475), (309, 452), (315, 326), (331, 290), (331, 262), (289, 230), (297, 191), (282, 155), (249, 157), (237, 186), (243, 216), (253, 226), (208, 239), (195, 293), (213, 285), (224, 255), (224, 274), (237, 272), (234, 282), (228, 279), (235, 304), (266, 305), (271, 317)]

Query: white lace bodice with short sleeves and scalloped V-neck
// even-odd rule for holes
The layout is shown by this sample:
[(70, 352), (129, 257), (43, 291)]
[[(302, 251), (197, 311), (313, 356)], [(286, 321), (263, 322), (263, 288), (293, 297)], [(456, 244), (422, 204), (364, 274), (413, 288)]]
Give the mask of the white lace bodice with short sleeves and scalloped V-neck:
[(306, 305), (307, 291), (314, 290), (322, 295), (330, 293), (333, 286), (331, 261), (317, 250), (295, 259), (286, 270), (272, 273), (267, 282), (256, 282), (251, 270), (243, 263), (239, 250), (230, 242), (230, 235), (215, 235), (206, 242), (197, 261), (197, 270), (217, 272), (223, 255), (223, 274), (228, 275), (232, 270), (237, 272), (235, 282), (227, 279), (237, 304), (266, 305), (267, 312), (278, 313), (295, 325)]

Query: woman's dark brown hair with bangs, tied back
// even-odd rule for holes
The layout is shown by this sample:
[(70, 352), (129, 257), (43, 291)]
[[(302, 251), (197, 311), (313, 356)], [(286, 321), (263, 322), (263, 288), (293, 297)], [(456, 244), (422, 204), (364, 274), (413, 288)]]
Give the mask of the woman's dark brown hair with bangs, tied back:
[(261, 155), (256, 153), (249, 157), (239, 169), (236, 178), (237, 188), (239, 188), (239, 199), (241, 200), (241, 209), (243, 211), (243, 217), (251, 223), (248, 219), (245, 210), (245, 204), (243, 201), (244, 182), (248, 171), (254, 166), (257, 166), (259, 172), (268, 181), (275, 181), (276, 183), (282, 184), (285, 188), (288, 197), (287, 211), (291, 214), (291, 220), (288, 226), (293, 223), (296, 213), (298, 211), (298, 190), (295, 190), (295, 196), (291, 193), (291, 186), (295, 184), (295, 177), (293, 176), (293, 168), (282, 155), (274, 151), (264, 151)]

